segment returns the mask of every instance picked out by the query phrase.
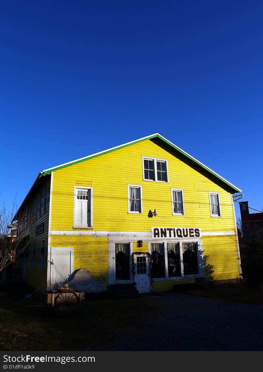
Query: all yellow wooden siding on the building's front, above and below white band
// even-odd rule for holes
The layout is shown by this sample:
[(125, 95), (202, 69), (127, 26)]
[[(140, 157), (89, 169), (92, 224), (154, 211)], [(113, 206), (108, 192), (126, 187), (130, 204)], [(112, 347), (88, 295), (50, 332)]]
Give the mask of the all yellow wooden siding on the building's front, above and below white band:
[[(169, 183), (144, 181), (142, 156), (167, 159)], [(128, 213), (127, 184), (142, 185), (143, 214)], [(93, 230), (147, 232), (151, 227), (200, 227), (202, 231), (235, 231), (230, 193), (150, 140), (54, 171), (51, 230), (76, 231), (72, 228), (74, 186), (93, 189)], [(185, 216), (172, 215), (171, 188), (184, 190)], [(211, 217), (209, 191), (219, 193), (221, 217)], [(155, 208), (158, 216), (149, 218), (149, 210)], [(107, 238), (53, 235), (51, 246), (74, 247), (74, 269), (84, 267), (95, 280), (101, 275), (108, 280)], [(234, 235), (204, 236), (203, 248), (209, 256), (207, 264), (214, 266), (214, 280), (238, 276)], [(133, 251), (147, 252), (147, 242), (143, 248), (133, 243)], [(155, 282), (153, 290), (172, 289), (179, 282)]]

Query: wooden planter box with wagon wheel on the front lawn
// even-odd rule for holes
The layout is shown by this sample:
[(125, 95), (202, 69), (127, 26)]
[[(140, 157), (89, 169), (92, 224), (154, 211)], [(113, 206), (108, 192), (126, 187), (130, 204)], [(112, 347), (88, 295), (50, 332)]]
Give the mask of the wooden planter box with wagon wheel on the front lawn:
[(42, 306), (81, 305), (84, 297), (80, 291), (42, 292)]

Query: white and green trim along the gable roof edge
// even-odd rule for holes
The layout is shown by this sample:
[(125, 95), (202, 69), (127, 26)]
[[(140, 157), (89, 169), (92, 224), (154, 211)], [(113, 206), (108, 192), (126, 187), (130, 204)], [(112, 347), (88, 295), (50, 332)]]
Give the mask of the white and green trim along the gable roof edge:
[(82, 163), (82, 161), (93, 159), (93, 158), (96, 158), (98, 156), (105, 155), (105, 154), (111, 153), (111, 152), (116, 151), (116, 150), (120, 150), (121, 148), (128, 147), (130, 145), (134, 145), (136, 143), (140, 143), (140, 142), (143, 142), (143, 141), (146, 141), (146, 140), (151, 140), (153, 138), (159, 138), (161, 141), (165, 142), (168, 146), (170, 146), (171, 148), (173, 148), (173, 150), (178, 151), (180, 154), (184, 155), (186, 158), (188, 158), (189, 160), (191, 160), (193, 163), (197, 164), (199, 167), (201, 167), (202, 169), (204, 169), (205, 171), (207, 171), (208, 173), (210, 173), (213, 177), (215, 177), (216, 179), (220, 180), (225, 185), (227, 185), (233, 191), (233, 193), (241, 192), (241, 190), (238, 189), (238, 187), (232, 185), (232, 183), (230, 183), (227, 180), (225, 180), (219, 174), (217, 174), (214, 171), (212, 171), (212, 169), (210, 169), (207, 166), (205, 166), (204, 164), (202, 164), (200, 161), (198, 161), (197, 159), (195, 159), (194, 157), (192, 157), (191, 155), (189, 155), (188, 153), (186, 153), (181, 148), (177, 147), (175, 144), (173, 144), (172, 142), (170, 142), (169, 140), (167, 140), (166, 138), (164, 138), (159, 133), (155, 133), (155, 134), (149, 135), (147, 137), (140, 138), (139, 140), (127, 142), (126, 144), (119, 145), (119, 146), (110, 148), (108, 150), (104, 150), (104, 151), (101, 151), (99, 153), (95, 153), (95, 154), (86, 156), (84, 158), (80, 158), (80, 159), (77, 159), (77, 160), (74, 160), (74, 161), (70, 161), (69, 163), (65, 163), (65, 164), (61, 164), (61, 165), (58, 165), (58, 166), (53, 167), (53, 168), (45, 169), (45, 170), (43, 170), (41, 172), (41, 174), (43, 176), (45, 176), (46, 174), (51, 174), (51, 172), (54, 172), (56, 170), (59, 170), (59, 169), (62, 169), (62, 168), (66, 168), (66, 167), (69, 167), (69, 166), (74, 165), (74, 164)]

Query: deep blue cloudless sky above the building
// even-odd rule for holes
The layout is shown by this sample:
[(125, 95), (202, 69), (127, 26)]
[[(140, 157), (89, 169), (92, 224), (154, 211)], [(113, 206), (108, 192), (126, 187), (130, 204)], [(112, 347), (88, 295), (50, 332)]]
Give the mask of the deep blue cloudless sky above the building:
[(0, 206), (159, 132), (261, 209), (262, 18), (262, 1), (2, 2)]

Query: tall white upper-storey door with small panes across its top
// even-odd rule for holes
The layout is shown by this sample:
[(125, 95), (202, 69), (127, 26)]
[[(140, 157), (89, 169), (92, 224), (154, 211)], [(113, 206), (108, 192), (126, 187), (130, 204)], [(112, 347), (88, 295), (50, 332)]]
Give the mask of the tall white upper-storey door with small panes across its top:
[(92, 187), (74, 186), (74, 228), (92, 228)]

